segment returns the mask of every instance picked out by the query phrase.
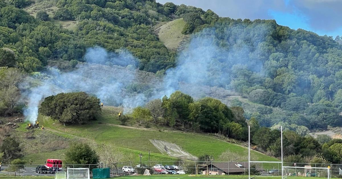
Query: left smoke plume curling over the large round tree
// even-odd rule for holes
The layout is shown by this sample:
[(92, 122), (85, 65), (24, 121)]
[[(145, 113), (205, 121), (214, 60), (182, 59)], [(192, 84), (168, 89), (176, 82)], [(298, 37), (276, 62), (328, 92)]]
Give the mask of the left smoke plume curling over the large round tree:
[(49, 68), (42, 75), (36, 75), (43, 80), (35, 87), (27, 82), (21, 85), (28, 101), (28, 107), (24, 109), (26, 120), (35, 123), (42, 100), (61, 92), (92, 93), (105, 105), (122, 105), (126, 111), (144, 104), (144, 96), (125, 89), (137, 76), (136, 59), (127, 51), (115, 54), (94, 47), (87, 50), (84, 60), (88, 63), (78, 64), (71, 72)]

